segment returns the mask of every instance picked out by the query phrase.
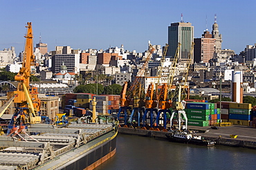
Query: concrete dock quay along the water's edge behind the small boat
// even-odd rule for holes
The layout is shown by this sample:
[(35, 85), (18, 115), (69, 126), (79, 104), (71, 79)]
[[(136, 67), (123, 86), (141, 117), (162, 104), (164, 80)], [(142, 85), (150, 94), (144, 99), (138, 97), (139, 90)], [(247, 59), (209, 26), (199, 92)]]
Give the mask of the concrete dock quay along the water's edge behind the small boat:
[[(211, 127), (188, 126), (188, 129), (195, 131), (199, 136), (215, 140), (216, 145), (256, 149), (256, 129), (252, 127), (233, 125), (230, 127), (211, 129)], [(171, 133), (168, 131), (154, 131), (125, 127), (119, 127), (118, 132), (120, 134), (131, 134), (152, 138), (166, 138), (165, 134)], [(230, 135), (237, 135), (237, 138), (231, 138)]]

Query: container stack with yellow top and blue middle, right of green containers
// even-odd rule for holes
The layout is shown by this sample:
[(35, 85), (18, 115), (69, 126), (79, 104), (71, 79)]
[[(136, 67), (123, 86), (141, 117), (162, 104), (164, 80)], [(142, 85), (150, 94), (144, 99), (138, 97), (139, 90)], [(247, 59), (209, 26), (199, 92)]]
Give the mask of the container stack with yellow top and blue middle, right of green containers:
[(229, 122), (233, 125), (250, 126), (252, 105), (250, 103), (230, 103)]

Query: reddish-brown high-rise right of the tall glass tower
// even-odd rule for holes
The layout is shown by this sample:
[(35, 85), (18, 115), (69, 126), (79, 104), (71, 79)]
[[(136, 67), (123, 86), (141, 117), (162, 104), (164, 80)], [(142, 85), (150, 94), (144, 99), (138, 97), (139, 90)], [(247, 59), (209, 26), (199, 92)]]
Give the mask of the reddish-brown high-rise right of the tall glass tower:
[(209, 63), (215, 52), (216, 39), (207, 30), (203, 32), (202, 37), (194, 39), (194, 62)]

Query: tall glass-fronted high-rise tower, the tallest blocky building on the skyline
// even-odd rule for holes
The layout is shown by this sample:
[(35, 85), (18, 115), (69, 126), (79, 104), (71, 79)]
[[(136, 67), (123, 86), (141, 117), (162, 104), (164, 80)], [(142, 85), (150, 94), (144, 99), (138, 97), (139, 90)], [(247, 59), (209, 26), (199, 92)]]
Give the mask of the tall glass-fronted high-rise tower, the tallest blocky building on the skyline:
[[(194, 59), (191, 52), (192, 42), (194, 41), (194, 26), (191, 23), (171, 23), (168, 27), (168, 51), (167, 56), (175, 56), (178, 44), (181, 43), (179, 51), (179, 63), (188, 63), (189, 59)], [(190, 58), (190, 53), (192, 54)]]

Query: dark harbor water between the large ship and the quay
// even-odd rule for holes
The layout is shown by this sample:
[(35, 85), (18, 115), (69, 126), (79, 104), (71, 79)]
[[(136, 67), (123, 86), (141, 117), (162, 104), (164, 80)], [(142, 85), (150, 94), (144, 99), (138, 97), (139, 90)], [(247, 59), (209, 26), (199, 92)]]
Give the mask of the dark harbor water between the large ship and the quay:
[(118, 134), (116, 155), (96, 170), (129, 169), (255, 169), (256, 150), (203, 147), (164, 139)]

